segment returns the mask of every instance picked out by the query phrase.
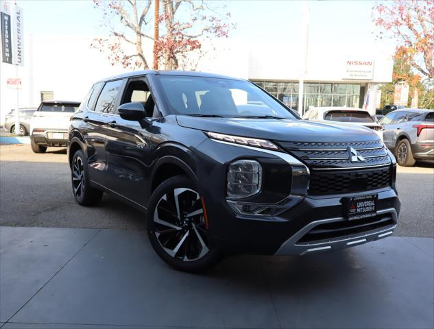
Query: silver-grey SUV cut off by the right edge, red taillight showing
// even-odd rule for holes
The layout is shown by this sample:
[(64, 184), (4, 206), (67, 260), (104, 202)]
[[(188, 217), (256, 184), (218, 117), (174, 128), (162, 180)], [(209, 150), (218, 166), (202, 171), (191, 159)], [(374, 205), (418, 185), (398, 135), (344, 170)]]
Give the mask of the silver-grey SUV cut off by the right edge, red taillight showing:
[(379, 122), (384, 143), (401, 166), (413, 166), (415, 160), (434, 160), (434, 111), (396, 110)]

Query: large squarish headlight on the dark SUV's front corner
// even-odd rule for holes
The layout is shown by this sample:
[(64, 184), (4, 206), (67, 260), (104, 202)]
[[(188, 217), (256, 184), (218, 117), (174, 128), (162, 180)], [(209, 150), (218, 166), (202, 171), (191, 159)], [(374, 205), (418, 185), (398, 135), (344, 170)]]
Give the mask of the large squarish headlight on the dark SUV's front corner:
[(230, 199), (250, 197), (261, 191), (262, 167), (255, 160), (237, 160), (229, 164), (227, 194)]

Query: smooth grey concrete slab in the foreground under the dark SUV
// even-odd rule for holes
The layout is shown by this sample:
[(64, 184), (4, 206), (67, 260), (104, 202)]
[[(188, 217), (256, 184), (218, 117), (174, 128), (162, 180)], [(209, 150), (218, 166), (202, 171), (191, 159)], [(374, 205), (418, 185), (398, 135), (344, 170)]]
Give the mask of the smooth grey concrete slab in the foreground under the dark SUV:
[[(0, 228), (3, 328), (433, 328), (432, 238), (170, 269), (143, 230)], [(1, 326), (1, 325), (0, 325)]]

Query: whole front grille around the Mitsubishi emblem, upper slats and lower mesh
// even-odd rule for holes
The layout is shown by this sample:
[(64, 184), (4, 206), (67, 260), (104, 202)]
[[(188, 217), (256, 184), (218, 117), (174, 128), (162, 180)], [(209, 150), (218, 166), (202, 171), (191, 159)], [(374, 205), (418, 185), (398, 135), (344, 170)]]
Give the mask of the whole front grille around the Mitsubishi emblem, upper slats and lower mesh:
[[(309, 195), (357, 193), (391, 185), (391, 160), (382, 141), (280, 142), (311, 172)], [(354, 161), (351, 148), (357, 151)]]

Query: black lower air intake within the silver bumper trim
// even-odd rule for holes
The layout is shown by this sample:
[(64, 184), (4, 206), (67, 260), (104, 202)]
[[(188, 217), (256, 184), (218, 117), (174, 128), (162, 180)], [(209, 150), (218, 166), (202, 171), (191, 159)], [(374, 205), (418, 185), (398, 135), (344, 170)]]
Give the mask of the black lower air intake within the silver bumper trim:
[(355, 221), (335, 221), (315, 226), (306, 233), (297, 243), (312, 243), (322, 240), (337, 239), (352, 234), (360, 234), (381, 228), (394, 226), (396, 222), (391, 215), (378, 215), (367, 219)]

